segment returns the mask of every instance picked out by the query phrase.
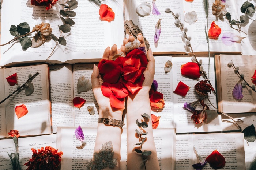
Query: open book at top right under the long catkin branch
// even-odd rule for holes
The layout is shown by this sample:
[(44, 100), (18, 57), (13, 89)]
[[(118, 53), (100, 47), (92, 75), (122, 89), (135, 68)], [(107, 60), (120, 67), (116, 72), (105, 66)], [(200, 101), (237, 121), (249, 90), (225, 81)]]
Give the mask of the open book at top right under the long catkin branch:
[[(212, 14), (212, 3), (215, 0), (209, 0), (209, 15), (208, 15), (208, 28), (210, 29), (210, 25), (212, 21), (221, 28), (221, 34), (218, 39), (209, 39), (210, 43), (210, 52), (215, 54), (224, 54), (224, 53), (232, 53), (232, 54), (240, 54), (242, 52), (241, 44), (234, 43), (232, 46), (226, 46), (222, 43), (221, 37), (225, 32), (232, 32), (235, 35), (239, 35), (241, 37), (246, 37), (244, 33), (240, 33), (232, 28), (230, 28), (229, 24), (224, 19), (216, 18)], [(196, 54), (208, 54), (208, 43), (205, 35), (205, 27), (207, 30), (207, 20), (204, 12), (203, 1), (193, 1), (186, 2), (184, 0), (168, 0), (168, 1), (156, 1), (155, 4), (161, 13), (160, 15), (153, 15), (152, 12), (149, 16), (140, 17), (136, 13), (136, 8), (140, 5), (144, 0), (125, 0), (124, 8), (125, 8), (125, 19), (132, 20), (135, 25), (139, 25), (140, 29), (143, 32), (144, 37), (150, 42), (150, 47), (153, 51), (153, 54), (185, 54), (191, 53), (190, 49), (185, 46), (184, 39), (181, 38), (181, 30), (176, 27), (174, 24), (174, 17), (171, 13), (166, 13), (165, 9), (170, 8), (173, 13), (179, 13), (181, 22), (184, 23), (185, 27), (188, 28), (187, 35), (192, 37), (191, 45), (193, 51)], [(228, 4), (229, 8), (227, 11), (231, 13), (232, 19), (237, 20), (241, 13), (240, 7), (244, 1), (241, 0), (227, 0), (226, 4)], [(151, 7), (152, 7), (152, 3)], [(184, 15), (188, 12), (195, 11), (197, 14), (196, 23), (189, 25), (184, 22)], [(154, 43), (155, 36), (155, 25), (157, 21), (161, 20), (161, 34), (158, 40), (158, 43)], [(249, 20), (249, 19), (248, 19)], [(250, 21), (250, 23), (252, 23)], [(246, 25), (246, 26), (245, 26)], [(250, 24), (249, 24), (250, 25)], [(243, 24), (242, 30), (248, 32), (249, 25)], [(236, 28), (236, 25), (233, 25)], [(249, 34), (249, 33), (248, 33)], [(251, 34), (251, 32), (250, 32)], [(250, 44), (256, 44), (255, 35), (249, 35), (250, 37), (246, 37), (245, 39)], [(254, 36), (254, 37), (253, 37)], [(244, 40), (243, 40), (244, 41)], [(245, 47), (246, 48), (246, 47)], [(251, 49), (253, 50), (253, 48)], [(253, 50), (255, 51), (255, 50)]]

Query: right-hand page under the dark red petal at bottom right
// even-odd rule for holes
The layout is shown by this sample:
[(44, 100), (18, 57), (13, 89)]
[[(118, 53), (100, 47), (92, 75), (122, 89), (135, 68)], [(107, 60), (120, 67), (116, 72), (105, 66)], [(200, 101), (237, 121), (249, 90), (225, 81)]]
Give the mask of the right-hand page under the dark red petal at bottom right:
[[(245, 169), (243, 133), (197, 134), (193, 135), (193, 145), (203, 159), (217, 149), (226, 160), (222, 169)], [(193, 164), (199, 163), (194, 153), (193, 160)], [(213, 168), (207, 163), (204, 169), (212, 170)]]

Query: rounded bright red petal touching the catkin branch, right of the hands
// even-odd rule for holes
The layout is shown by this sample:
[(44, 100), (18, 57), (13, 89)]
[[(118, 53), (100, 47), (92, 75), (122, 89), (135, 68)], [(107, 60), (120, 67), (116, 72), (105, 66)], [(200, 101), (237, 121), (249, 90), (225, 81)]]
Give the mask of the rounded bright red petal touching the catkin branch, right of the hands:
[(198, 64), (193, 62), (188, 62), (186, 64), (181, 65), (180, 71), (182, 75), (192, 79), (196, 79), (201, 76)]

